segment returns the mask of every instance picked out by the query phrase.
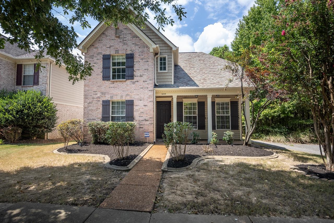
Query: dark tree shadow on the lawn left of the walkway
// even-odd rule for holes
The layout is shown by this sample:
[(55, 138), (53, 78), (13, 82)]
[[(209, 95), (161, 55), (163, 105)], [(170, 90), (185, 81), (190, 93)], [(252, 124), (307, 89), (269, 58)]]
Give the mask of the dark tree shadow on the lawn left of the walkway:
[(19, 201), (97, 207), (126, 175), (97, 162), (0, 171), (0, 203)]

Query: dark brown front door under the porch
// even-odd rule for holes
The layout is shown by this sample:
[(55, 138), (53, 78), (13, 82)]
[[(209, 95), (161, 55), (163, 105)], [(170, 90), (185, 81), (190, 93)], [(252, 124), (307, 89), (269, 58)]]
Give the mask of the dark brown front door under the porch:
[(164, 125), (171, 122), (171, 102), (157, 101), (157, 139), (162, 139)]

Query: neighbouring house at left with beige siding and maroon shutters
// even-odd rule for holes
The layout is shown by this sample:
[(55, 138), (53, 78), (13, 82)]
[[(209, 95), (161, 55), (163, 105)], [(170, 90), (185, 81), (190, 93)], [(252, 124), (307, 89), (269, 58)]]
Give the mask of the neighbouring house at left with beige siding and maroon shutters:
[[(0, 39), (7, 39), (0, 34)], [(5, 48), (0, 49), (0, 90), (41, 91), (43, 95), (52, 97), (57, 105), (57, 125), (69, 119), (83, 118), (83, 82), (72, 85), (68, 81), (65, 66), (55, 64), (55, 59), (45, 56), (41, 59), (42, 67), (35, 72), (37, 51), (27, 53), (18, 48), (17, 44), (5, 42)], [(54, 130), (45, 138), (59, 138)]]

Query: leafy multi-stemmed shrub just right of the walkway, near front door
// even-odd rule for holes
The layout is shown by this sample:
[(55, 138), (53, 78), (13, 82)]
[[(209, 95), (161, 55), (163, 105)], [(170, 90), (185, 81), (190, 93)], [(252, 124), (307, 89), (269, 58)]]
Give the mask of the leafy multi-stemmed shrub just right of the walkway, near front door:
[(170, 122), (165, 124), (162, 138), (171, 157), (176, 161), (184, 159), (189, 132), (192, 129), (192, 125), (188, 122)]

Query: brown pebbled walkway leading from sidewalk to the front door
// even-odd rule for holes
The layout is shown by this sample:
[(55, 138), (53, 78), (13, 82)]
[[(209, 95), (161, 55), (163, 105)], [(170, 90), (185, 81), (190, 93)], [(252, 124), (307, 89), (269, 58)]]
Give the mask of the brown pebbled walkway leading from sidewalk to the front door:
[(151, 212), (167, 148), (153, 145), (99, 208)]

